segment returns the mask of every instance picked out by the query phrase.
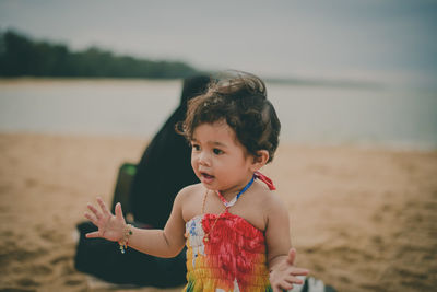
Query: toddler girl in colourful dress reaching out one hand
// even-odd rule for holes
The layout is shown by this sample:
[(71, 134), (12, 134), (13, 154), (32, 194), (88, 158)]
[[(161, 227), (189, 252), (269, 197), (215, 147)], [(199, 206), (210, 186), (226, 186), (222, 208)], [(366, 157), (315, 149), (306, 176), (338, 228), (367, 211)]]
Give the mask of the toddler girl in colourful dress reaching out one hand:
[(239, 72), (212, 82), (177, 125), (191, 144), (191, 166), (201, 183), (179, 191), (164, 230), (126, 224), (120, 203), (113, 215), (97, 198), (102, 210), (88, 205), (92, 213), (85, 217), (98, 231), (86, 236), (119, 242), (122, 253), (129, 246), (158, 257), (174, 257), (187, 245), (184, 291), (281, 291), (300, 284), (296, 276), (308, 271), (293, 266), (287, 209), (259, 172), (273, 160), (280, 128), (259, 78)]

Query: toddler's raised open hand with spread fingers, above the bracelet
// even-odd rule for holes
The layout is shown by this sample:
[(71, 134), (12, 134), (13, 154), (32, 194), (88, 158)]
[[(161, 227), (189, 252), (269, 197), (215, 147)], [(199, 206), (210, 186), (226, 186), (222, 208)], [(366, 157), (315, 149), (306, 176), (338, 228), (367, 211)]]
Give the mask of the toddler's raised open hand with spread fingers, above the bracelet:
[(88, 203), (87, 208), (93, 214), (86, 212), (85, 218), (98, 227), (98, 231), (86, 234), (86, 238), (102, 237), (108, 241), (118, 242), (123, 237), (126, 226), (122, 217), (121, 205), (116, 205), (116, 215), (113, 215), (102, 198), (97, 198), (97, 203), (102, 211), (97, 210), (93, 205)]

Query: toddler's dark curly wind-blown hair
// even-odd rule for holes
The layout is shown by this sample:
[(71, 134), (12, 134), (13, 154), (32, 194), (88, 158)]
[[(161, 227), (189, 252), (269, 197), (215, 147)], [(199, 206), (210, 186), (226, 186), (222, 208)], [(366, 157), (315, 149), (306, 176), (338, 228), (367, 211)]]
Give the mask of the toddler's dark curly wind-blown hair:
[(248, 153), (258, 156), (258, 151), (267, 150), (268, 162), (273, 160), (281, 122), (261, 79), (240, 71), (212, 79), (204, 94), (189, 101), (186, 119), (176, 130), (191, 141), (198, 126), (221, 120), (235, 131)]

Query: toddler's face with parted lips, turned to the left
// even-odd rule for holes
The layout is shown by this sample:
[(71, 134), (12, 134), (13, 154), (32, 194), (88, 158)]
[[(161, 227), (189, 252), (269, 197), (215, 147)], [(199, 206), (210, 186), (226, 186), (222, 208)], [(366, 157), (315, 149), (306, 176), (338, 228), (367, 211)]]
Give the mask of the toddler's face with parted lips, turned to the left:
[(191, 145), (191, 166), (208, 189), (238, 191), (256, 171), (253, 156), (246, 154), (225, 121), (198, 126)]

